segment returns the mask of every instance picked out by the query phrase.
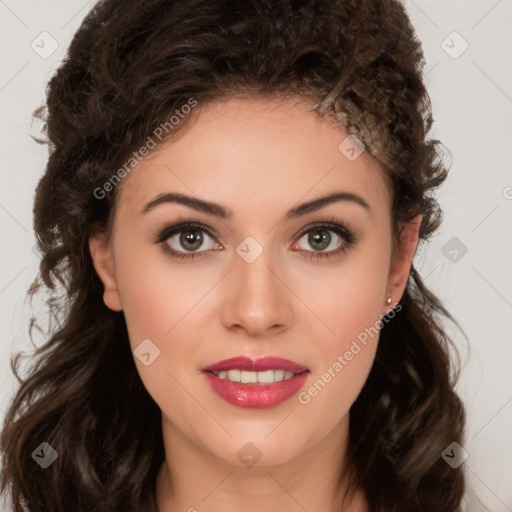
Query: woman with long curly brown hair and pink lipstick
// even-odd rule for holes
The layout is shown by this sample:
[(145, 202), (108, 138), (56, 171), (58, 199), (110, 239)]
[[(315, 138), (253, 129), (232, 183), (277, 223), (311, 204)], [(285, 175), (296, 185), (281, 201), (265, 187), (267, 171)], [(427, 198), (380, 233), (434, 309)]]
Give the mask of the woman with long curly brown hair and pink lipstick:
[(48, 89), (15, 512), (461, 510), (423, 64), (392, 0), (96, 5)]

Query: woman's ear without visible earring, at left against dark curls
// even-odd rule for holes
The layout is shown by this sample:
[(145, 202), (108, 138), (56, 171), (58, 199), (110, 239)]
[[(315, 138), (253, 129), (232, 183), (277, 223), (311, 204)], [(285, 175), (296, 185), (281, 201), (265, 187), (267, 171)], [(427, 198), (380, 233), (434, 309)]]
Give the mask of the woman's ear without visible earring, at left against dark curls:
[(103, 282), (103, 302), (113, 311), (121, 311), (121, 296), (115, 276), (112, 248), (105, 235), (94, 235), (89, 238), (89, 251), (96, 273)]

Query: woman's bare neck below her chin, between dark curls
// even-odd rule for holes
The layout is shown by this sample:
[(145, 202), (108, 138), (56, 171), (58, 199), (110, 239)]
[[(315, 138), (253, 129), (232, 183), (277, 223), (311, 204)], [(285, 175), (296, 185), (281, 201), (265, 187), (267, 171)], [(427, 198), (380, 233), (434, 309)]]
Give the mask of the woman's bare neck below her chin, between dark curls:
[(166, 460), (157, 477), (158, 512), (366, 512), (362, 492), (341, 508), (348, 415), (328, 437), (290, 460), (252, 467), (219, 459), (163, 420)]

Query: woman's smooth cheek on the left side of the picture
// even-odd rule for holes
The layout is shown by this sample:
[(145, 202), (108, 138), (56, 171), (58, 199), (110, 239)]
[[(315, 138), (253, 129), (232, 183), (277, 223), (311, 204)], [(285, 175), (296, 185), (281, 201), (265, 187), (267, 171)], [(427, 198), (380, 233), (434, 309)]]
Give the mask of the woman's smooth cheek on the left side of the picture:
[[(179, 383), (186, 382), (191, 370), (183, 361), (193, 361), (194, 329), (198, 325), (194, 305), (206, 290), (191, 286), (199, 281), (186, 272), (172, 270), (165, 258), (155, 257), (155, 252), (126, 251), (117, 258), (123, 313), (144, 387), (161, 408), (172, 403), (185, 411), (193, 405), (186, 400)], [(147, 365), (139, 357), (144, 353), (150, 354)]]

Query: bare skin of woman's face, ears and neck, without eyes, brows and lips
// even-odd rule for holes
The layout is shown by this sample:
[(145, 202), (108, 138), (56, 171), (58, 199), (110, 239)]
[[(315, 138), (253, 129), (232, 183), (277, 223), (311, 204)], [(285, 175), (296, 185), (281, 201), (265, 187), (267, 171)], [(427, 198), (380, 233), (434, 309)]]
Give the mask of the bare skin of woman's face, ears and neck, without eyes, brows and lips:
[[(421, 216), (405, 226), (392, 255), (384, 169), (368, 151), (348, 160), (338, 150), (346, 129), (319, 120), (310, 105), (253, 98), (202, 108), (177, 140), (152, 150), (124, 178), (111, 238), (90, 239), (105, 304), (124, 312), (132, 350), (147, 338), (160, 350), (149, 366), (135, 357), (162, 411), (159, 512), (339, 507), (337, 468), (349, 410), (371, 370), (378, 336), (307, 404), (293, 396), (269, 409), (236, 407), (210, 389), (200, 370), (239, 355), (276, 355), (310, 369), (307, 390), (392, 308), (386, 299), (396, 304), (404, 292)], [(293, 206), (338, 190), (364, 198), (371, 213), (338, 201), (283, 220)], [(219, 203), (233, 217), (172, 203), (141, 213), (166, 192)], [(200, 232), (203, 252), (193, 260), (172, 258), (154, 243), (182, 215), (218, 234)], [(307, 228), (333, 215), (357, 233), (357, 243), (331, 258), (301, 257), (318, 252), (303, 235)], [(346, 243), (329, 233), (324, 252)], [(236, 252), (247, 236), (263, 249), (252, 263)], [(167, 243), (174, 250), (192, 252), (179, 235), (173, 240)], [(237, 457), (247, 443), (261, 453), (253, 467)], [(366, 511), (363, 493), (345, 510)]]

